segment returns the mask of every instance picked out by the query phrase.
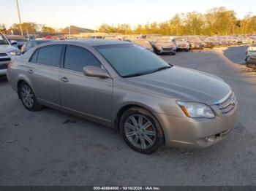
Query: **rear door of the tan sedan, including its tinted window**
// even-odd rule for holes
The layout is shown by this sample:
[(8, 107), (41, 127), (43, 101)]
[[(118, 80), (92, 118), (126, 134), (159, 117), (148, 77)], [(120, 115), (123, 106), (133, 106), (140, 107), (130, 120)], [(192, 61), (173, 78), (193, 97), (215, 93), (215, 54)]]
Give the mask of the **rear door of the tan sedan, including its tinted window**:
[(59, 69), (64, 45), (40, 47), (34, 52), (27, 71), (37, 98), (49, 104), (60, 105)]

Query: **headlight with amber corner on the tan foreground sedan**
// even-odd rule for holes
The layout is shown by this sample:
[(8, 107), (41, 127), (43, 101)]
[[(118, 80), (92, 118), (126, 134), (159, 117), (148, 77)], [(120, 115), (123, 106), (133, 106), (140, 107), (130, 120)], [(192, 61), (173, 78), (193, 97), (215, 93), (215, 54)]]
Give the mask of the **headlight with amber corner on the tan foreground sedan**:
[(182, 102), (182, 101), (177, 101), (177, 104), (178, 106), (181, 107), (182, 111), (184, 112), (184, 114), (187, 115), (187, 117), (192, 117), (192, 118), (215, 117), (214, 112), (206, 104), (200, 104), (196, 102)]

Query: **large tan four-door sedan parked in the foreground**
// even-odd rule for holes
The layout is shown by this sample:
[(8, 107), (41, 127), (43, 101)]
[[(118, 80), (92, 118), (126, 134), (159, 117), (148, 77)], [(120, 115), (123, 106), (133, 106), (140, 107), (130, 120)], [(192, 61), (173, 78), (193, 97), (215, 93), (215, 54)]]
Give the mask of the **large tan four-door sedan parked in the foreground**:
[(124, 41), (40, 44), (13, 61), (7, 78), (29, 111), (50, 106), (108, 125), (144, 154), (164, 144), (210, 147), (237, 117), (236, 95), (222, 79)]

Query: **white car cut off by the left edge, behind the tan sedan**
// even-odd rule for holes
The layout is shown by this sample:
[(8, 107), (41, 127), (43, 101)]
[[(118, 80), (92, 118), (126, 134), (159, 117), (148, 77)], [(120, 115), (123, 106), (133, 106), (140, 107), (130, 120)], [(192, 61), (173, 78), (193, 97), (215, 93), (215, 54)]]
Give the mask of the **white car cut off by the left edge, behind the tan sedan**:
[(13, 55), (20, 55), (17, 42), (9, 42), (4, 34), (0, 33), (0, 75), (7, 73), (8, 63), (10, 63)]

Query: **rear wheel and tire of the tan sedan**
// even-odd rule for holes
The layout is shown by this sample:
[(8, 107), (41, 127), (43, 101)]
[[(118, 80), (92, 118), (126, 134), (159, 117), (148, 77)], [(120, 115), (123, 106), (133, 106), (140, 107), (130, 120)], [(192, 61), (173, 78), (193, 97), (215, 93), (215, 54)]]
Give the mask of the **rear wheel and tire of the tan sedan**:
[(34, 95), (33, 90), (26, 82), (22, 82), (18, 87), (18, 95), (23, 106), (29, 111), (36, 112), (42, 109), (42, 106), (37, 101), (36, 95)]

